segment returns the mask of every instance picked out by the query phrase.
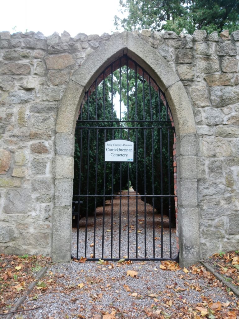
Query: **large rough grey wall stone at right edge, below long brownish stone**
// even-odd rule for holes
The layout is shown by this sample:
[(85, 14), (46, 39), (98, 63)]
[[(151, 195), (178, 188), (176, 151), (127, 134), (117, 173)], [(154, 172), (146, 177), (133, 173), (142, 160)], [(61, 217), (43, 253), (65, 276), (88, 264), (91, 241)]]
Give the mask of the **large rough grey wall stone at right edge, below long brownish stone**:
[(235, 104), (239, 101), (239, 86), (213, 86), (210, 87), (211, 103), (215, 108)]

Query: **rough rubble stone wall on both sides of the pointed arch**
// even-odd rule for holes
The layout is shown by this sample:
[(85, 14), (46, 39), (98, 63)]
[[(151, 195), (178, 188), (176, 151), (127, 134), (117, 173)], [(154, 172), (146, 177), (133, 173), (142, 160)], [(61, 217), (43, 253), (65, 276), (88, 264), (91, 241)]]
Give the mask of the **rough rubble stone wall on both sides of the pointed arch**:
[[(238, 249), (239, 31), (219, 37), (205, 31), (182, 37), (150, 30), (133, 34), (171, 66), (191, 102), (199, 140), (193, 169), (197, 171), (200, 256)], [(79, 33), (71, 38), (65, 31), (49, 37), (40, 32), (0, 32), (1, 252), (52, 256), (57, 231), (53, 214), (64, 214), (64, 206), (67, 210), (72, 200), (73, 176), (68, 169), (73, 166), (72, 144), (63, 133), (55, 144), (59, 105), (74, 72), (116, 35)], [(188, 161), (178, 156), (177, 162), (179, 181)], [(60, 183), (63, 177), (65, 184)], [(61, 203), (63, 193), (67, 204)], [(179, 206), (179, 219), (182, 212)]]

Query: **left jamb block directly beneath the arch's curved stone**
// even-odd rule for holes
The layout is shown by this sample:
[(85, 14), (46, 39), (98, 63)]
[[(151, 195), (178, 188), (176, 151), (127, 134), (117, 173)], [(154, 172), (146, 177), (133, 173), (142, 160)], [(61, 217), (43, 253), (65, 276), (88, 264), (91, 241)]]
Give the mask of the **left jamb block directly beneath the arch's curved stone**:
[(56, 153), (58, 155), (74, 156), (74, 136), (72, 134), (56, 134)]

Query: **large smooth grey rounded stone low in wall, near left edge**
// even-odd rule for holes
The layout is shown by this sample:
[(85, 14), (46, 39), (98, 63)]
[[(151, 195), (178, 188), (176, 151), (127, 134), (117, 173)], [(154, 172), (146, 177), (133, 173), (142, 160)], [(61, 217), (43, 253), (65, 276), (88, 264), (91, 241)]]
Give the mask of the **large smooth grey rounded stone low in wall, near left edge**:
[(9, 214), (27, 213), (32, 209), (33, 200), (28, 189), (8, 189), (3, 212)]

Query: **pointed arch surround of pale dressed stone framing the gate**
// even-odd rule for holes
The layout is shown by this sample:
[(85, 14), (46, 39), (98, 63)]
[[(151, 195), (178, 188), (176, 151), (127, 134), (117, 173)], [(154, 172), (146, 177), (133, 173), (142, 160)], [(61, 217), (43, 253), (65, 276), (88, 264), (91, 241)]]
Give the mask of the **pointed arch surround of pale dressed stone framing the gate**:
[(178, 167), (179, 259), (183, 265), (199, 260), (199, 216), (196, 183), (196, 129), (186, 91), (170, 65), (132, 33), (111, 37), (92, 52), (72, 76), (61, 100), (56, 124), (54, 261), (71, 257), (74, 130), (81, 102), (102, 71), (122, 56), (136, 61), (164, 92), (174, 119)]

